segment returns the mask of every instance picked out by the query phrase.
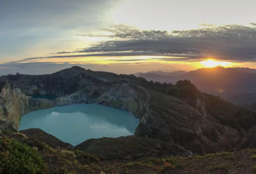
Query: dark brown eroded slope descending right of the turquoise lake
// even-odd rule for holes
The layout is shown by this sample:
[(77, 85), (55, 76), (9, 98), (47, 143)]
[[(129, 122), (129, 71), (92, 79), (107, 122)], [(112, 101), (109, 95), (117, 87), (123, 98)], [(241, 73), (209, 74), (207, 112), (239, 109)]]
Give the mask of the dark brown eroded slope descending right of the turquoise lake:
[[(209, 113), (199, 112), (179, 98), (150, 94), (150, 114), (142, 116), (136, 135), (171, 141), (199, 154), (233, 150), (245, 135), (219, 124)], [(205, 110), (204, 103), (201, 104), (200, 108)]]

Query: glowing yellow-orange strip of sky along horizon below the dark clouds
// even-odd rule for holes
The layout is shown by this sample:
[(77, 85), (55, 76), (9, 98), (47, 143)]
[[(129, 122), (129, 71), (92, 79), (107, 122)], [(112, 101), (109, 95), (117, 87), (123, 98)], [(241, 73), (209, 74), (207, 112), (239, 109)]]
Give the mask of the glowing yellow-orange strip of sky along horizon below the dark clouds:
[[(92, 67), (91, 70), (99, 71), (102, 66), (113, 67), (108, 71), (115, 73), (136, 73), (138, 71), (192, 71), (199, 68), (210, 68), (210, 67), (249, 67), (256, 68), (255, 63), (251, 62), (224, 62), (217, 61), (214, 58), (206, 58), (204, 61), (191, 62), (191, 61), (169, 61), (161, 60), (161, 58), (167, 57), (155, 57), (155, 56), (131, 56), (131, 57), (86, 57), (86, 58), (43, 58), (27, 62), (55, 62), (62, 64), (69, 62), (70, 64), (81, 64), (81, 65), (98, 65), (99, 67)], [(132, 67), (131, 67), (132, 66)], [(126, 68), (125, 68), (126, 67)], [(102, 69), (103, 71), (106, 71)]]

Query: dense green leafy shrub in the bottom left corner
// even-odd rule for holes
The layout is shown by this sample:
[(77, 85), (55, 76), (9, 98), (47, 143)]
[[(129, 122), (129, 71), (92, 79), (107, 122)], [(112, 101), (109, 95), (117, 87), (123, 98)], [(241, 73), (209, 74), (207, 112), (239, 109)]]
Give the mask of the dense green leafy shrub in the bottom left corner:
[(19, 143), (16, 139), (0, 139), (2, 148), (0, 152), (1, 174), (42, 174), (46, 165), (41, 156), (26, 144)]

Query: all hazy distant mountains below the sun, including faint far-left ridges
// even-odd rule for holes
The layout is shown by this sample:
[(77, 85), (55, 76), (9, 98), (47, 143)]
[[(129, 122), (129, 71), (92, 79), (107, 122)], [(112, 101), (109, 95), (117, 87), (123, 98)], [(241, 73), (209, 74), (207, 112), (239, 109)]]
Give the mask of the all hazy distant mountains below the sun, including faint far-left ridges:
[[(233, 103), (252, 103), (255, 100), (253, 96), (250, 99), (246, 96), (250, 95), (250, 93), (256, 93), (256, 69), (214, 67), (200, 68), (177, 76), (163, 76), (153, 73), (143, 73), (137, 76), (147, 80), (173, 84), (178, 80), (191, 80), (202, 92), (219, 95)], [(241, 102), (239, 102), (239, 98), (241, 98)]]

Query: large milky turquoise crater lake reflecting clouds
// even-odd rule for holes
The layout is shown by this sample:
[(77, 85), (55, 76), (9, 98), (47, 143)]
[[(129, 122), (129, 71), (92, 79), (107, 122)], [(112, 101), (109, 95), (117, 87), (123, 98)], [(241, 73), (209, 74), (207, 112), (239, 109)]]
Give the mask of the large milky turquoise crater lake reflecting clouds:
[(39, 128), (78, 145), (91, 138), (133, 135), (139, 119), (127, 111), (98, 104), (74, 104), (30, 112), (21, 117), (19, 130)]

